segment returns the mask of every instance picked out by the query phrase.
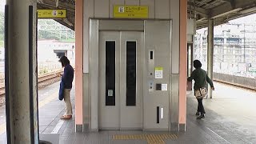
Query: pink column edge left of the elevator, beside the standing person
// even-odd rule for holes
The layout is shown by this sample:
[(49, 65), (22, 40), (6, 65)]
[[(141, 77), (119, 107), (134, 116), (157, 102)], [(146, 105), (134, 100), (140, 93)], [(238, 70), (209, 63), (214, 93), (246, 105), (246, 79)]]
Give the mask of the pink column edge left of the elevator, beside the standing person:
[(75, 1), (75, 124), (82, 125), (82, 14), (83, 0)]

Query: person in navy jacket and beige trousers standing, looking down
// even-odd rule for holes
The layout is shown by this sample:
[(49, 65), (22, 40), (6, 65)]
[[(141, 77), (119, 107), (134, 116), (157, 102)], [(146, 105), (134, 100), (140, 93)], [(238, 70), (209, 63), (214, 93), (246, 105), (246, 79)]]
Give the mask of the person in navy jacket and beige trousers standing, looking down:
[(64, 102), (66, 106), (66, 112), (62, 115), (61, 119), (70, 119), (72, 118), (72, 106), (70, 102), (70, 90), (72, 89), (72, 82), (74, 79), (74, 69), (70, 66), (70, 60), (66, 56), (62, 56), (59, 59), (59, 62), (62, 62), (62, 67), (64, 67), (64, 74), (62, 74), (62, 82), (64, 88)]

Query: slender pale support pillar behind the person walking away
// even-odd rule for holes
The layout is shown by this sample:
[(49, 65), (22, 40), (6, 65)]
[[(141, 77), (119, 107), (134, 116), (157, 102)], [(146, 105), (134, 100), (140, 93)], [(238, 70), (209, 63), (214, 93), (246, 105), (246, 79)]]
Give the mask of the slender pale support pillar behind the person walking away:
[[(214, 66), (214, 19), (208, 20), (207, 74), (213, 80)], [(212, 98), (212, 90), (208, 86), (208, 95)]]

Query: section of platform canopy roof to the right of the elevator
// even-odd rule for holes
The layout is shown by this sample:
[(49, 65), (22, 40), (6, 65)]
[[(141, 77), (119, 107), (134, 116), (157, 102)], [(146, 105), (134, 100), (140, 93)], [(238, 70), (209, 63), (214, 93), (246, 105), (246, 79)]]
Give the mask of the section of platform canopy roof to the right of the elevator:
[(188, 18), (196, 18), (197, 29), (207, 26), (209, 18), (214, 25), (256, 13), (256, 0), (188, 0)]

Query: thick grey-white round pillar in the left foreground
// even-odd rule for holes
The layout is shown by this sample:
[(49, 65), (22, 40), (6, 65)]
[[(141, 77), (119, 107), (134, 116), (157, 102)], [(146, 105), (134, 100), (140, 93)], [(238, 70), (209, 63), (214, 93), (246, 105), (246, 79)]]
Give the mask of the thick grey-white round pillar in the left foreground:
[(8, 143), (38, 143), (36, 0), (6, 0)]

